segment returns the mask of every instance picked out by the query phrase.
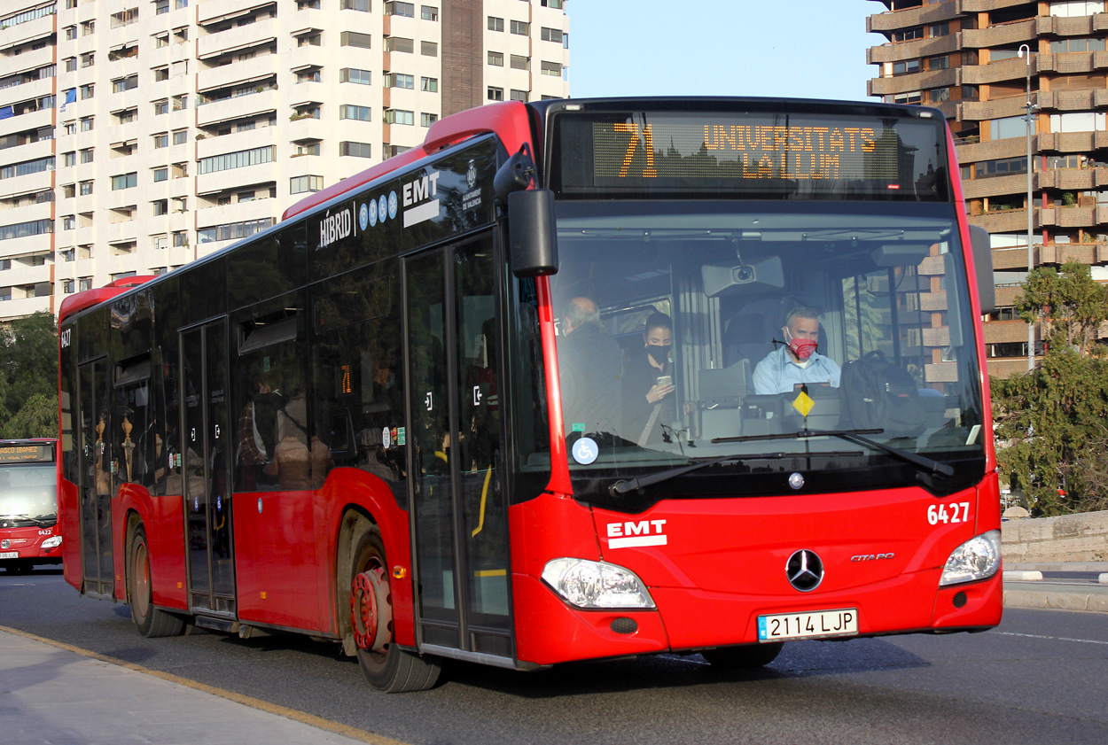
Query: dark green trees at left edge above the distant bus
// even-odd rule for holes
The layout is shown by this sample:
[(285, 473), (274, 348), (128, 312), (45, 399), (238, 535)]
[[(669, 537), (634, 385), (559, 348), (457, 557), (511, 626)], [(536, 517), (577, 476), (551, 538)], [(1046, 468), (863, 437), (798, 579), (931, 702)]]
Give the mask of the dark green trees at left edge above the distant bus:
[(47, 311), (0, 330), (0, 436), (58, 436), (58, 325)]

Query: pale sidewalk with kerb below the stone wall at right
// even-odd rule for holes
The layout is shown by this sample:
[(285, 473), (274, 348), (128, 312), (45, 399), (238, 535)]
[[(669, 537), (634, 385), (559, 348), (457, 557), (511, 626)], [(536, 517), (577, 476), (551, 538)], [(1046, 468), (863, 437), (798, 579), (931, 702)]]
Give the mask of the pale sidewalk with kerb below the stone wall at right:
[[(1010, 575), (1009, 575), (1010, 572)], [(1040, 572), (1043, 579), (1015, 579), (1023, 572)], [(1051, 573), (1080, 573), (1080, 578), (1057, 578)], [(1108, 573), (1108, 561), (1039, 562), (1004, 565), (1004, 607), (1046, 608), (1108, 613), (1108, 583), (1100, 575)]]

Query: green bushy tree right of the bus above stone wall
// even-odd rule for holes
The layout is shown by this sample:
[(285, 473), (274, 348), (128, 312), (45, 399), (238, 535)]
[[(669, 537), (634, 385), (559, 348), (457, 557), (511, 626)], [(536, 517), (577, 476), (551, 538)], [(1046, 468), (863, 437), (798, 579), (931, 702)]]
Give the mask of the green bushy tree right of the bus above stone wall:
[(1035, 515), (1104, 509), (1108, 355), (1096, 339), (1108, 288), (1085, 265), (1040, 267), (1028, 273), (1016, 309), (1025, 321), (1042, 319), (1046, 352), (1032, 372), (992, 379), (1002, 476)]

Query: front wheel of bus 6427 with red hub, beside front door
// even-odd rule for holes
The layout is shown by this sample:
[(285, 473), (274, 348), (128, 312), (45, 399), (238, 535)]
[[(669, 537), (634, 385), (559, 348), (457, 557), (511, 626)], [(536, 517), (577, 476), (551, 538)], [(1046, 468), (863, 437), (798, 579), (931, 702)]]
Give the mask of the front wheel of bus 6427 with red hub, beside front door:
[(384, 542), (377, 527), (358, 538), (350, 571), (350, 625), (358, 664), (370, 686), (382, 693), (425, 691), (439, 680), (437, 658), (392, 643), (392, 594)]

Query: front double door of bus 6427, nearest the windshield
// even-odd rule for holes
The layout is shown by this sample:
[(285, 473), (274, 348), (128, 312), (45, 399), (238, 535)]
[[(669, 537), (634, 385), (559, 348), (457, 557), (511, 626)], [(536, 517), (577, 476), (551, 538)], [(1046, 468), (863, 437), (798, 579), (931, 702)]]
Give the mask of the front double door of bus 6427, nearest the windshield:
[(492, 234), (404, 261), (411, 517), (423, 651), (511, 664)]

